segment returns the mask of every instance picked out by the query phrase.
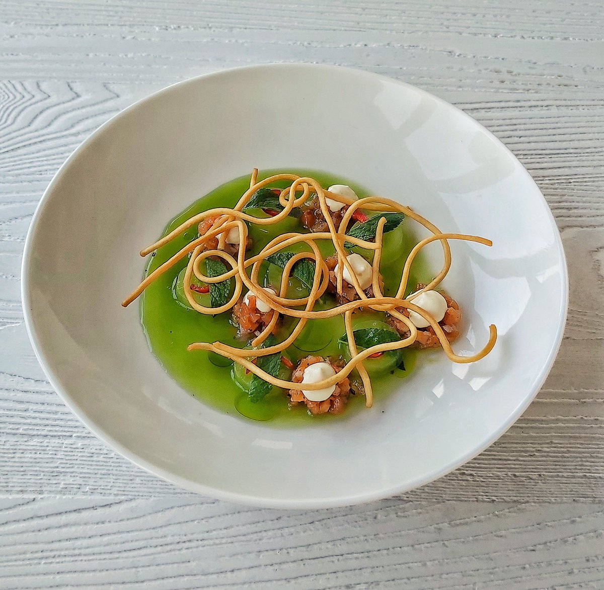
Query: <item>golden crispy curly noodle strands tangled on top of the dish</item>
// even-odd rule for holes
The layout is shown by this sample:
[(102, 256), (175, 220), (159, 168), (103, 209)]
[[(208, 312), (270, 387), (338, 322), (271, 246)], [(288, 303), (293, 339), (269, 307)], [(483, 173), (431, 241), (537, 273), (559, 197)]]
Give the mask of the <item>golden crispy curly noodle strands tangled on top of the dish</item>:
[[(439, 325), (439, 323), (432, 317), (425, 309), (420, 308), (417, 305), (414, 305), (413, 299), (417, 297), (423, 291), (428, 291), (437, 287), (440, 282), (445, 278), (446, 274), (451, 267), (451, 249), (448, 244), (449, 239), (463, 239), (466, 241), (477, 242), (479, 244), (484, 244), (485, 246), (492, 246), (492, 242), (489, 239), (480, 238), (478, 236), (472, 235), (464, 235), (461, 233), (441, 233), (440, 230), (435, 227), (428, 220), (423, 218), (421, 215), (417, 214), (413, 210), (403, 205), (399, 205), (396, 201), (392, 201), (383, 197), (366, 197), (361, 198), (359, 200), (352, 200), (349, 198), (342, 197), (341, 195), (336, 195), (330, 193), (324, 189), (319, 182), (310, 177), (299, 177), (296, 174), (275, 174), (274, 176), (269, 176), (264, 180), (257, 180), (258, 171), (254, 170), (251, 175), (249, 189), (242, 195), (239, 199), (236, 206), (233, 209), (230, 208), (216, 208), (210, 209), (210, 211), (204, 211), (198, 215), (194, 215), (180, 226), (176, 227), (176, 229), (172, 230), (169, 234), (159, 239), (155, 244), (147, 247), (144, 250), (141, 250), (141, 256), (147, 256), (149, 253), (157, 250), (158, 248), (164, 246), (169, 243), (177, 236), (181, 235), (190, 227), (193, 227), (196, 224), (199, 224), (202, 220), (208, 217), (214, 217), (217, 215), (216, 220), (212, 224), (210, 230), (207, 233), (200, 236), (199, 238), (191, 241), (187, 246), (179, 250), (172, 258), (164, 262), (161, 266), (156, 268), (143, 282), (139, 285), (139, 287), (127, 297), (126, 300), (122, 303), (124, 307), (133, 302), (133, 300), (137, 299), (141, 293), (153, 282), (157, 279), (161, 274), (165, 273), (165, 271), (172, 268), (175, 264), (181, 261), (183, 258), (191, 253), (191, 256), (188, 260), (187, 270), (185, 271), (184, 276), (184, 292), (187, 297), (188, 303), (191, 308), (195, 309), (199, 313), (216, 315), (229, 309), (233, 308), (233, 306), (239, 300), (239, 297), (242, 294), (243, 286), (247, 287), (249, 291), (254, 294), (255, 297), (262, 300), (266, 305), (269, 305), (271, 308), (271, 319), (265, 328), (257, 335), (254, 340), (252, 340), (252, 346), (257, 347), (251, 351), (248, 349), (240, 349), (233, 346), (228, 346), (227, 344), (223, 344), (222, 342), (195, 342), (188, 346), (189, 351), (194, 350), (202, 350), (202, 351), (212, 351), (223, 357), (229, 358), (236, 363), (241, 364), (245, 369), (251, 371), (255, 375), (259, 376), (265, 381), (273, 385), (277, 385), (277, 387), (283, 387), (285, 389), (300, 389), (300, 383), (292, 382), (292, 381), (284, 381), (283, 379), (278, 379), (269, 373), (266, 373), (264, 370), (257, 367), (252, 359), (255, 357), (263, 357), (266, 355), (271, 355), (275, 353), (280, 353), (284, 351), (288, 346), (290, 346), (300, 332), (304, 329), (304, 326), (308, 322), (308, 320), (317, 320), (324, 319), (333, 316), (339, 316), (344, 314), (344, 323), (346, 327), (346, 335), (348, 339), (348, 346), (350, 350), (350, 361), (345, 364), (342, 369), (336, 373), (336, 375), (323, 379), (323, 381), (317, 383), (304, 383), (305, 390), (317, 390), (324, 389), (326, 387), (330, 387), (335, 385), (339, 381), (342, 381), (346, 376), (352, 372), (353, 369), (358, 370), (359, 375), (361, 376), (364, 390), (365, 390), (365, 405), (367, 407), (371, 407), (373, 404), (373, 390), (371, 388), (371, 381), (367, 370), (363, 366), (363, 361), (374, 355), (376, 353), (385, 352), (385, 351), (394, 351), (397, 349), (402, 349), (407, 346), (411, 346), (414, 343), (417, 337), (417, 328), (411, 322), (411, 320), (406, 317), (402, 313), (402, 309), (408, 309), (409, 311), (415, 311), (417, 314), (422, 316), (429, 325), (434, 330), (435, 334), (439, 338), (440, 344), (445, 351), (445, 354), (454, 361), (455, 363), (473, 363), (474, 361), (478, 361), (492, 350), (495, 345), (495, 341), (497, 338), (497, 331), (494, 325), (489, 326), (489, 341), (486, 346), (472, 356), (460, 356), (453, 352), (451, 348), (451, 344), (443, 332), (443, 329)], [(259, 218), (254, 217), (252, 215), (246, 214), (243, 212), (243, 208), (246, 203), (251, 199), (252, 195), (260, 188), (265, 186), (269, 186), (272, 183), (278, 181), (287, 181), (291, 182), (291, 184), (281, 190), (279, 201), (281, 206), (283, 206), (283, 211), (279, 212), (274, 217), (268, 218)], [(300, 196), (297, 196), (300, 194)], [(316, 233), (284, 233), (283, 235), (277, 236), (272, 239), (260, 253), (255, 256), (251, 256), (250, 258), (246, 258), (245, 247), (239, 247), (239, 252), (237, 254), (237, 259), (233, 258), (229, 253), (224, 251), (226, 235), (231, 230), (231, 228), (236, 227), (239, 232), (239, 244), (246, 244), (248, 238), (248, 227), (246, 223), (253, 223), (257, 225), (272, 225), (283, 221), (289, 215), (293, 208), (299, 207), (303, 205), (312, 195), (316, 194), (316, 197), (319, 200), (321, 212), (325, 220), (327, 221), (327, 225), (329, 226), (329, 232), (316, 232)], [(326, 203), (326, 198), (333, 199), (335, 201), (339, 201), (341, 203), (345, 203), (347, 206), (347, 210), (345, 211), (344, 217), (339, 223), (339, 227), (335, 227), (333, 223), (332, 217), (330, 216), (329, 207)], [(428, 238), (422, 239), (414, 248), (411, 250), (410, 255), (406, 259), (405, 266), (403, 268), (402, 277), (400, 279), (399, 288), (396, 291), (396, 295), (394, 297), (385, 297), (382, 294), (381, 287), (379, 285), (379, 268), (380, 268), (380, 260), (382, 253), (382, 237), (384, 233), (384, 224), (386, 222), (385, 218), (382, 217), (377, 224), (377, 231), (374, 241), (365, 241), (363, 239), (354, 238), (349, 235), (345, 235), (347, 226), (357, 209), (364, 209), (365, 211), (378, 211), (378, 212), (402, 212), (407, 217), (417, 221), (422, 224), (423, 227), (428, 229), (432, 235)], [(211, 238), (215, 238), (219, 236), (218, 248), (214, 250), (206, 250), (205, 243)], [(320, 311), (315, 311), (313, 309), (315, 302), (319, 297), (325, 293), (327, 289), (327, 285), (329, 284), (329, 270), (325, 261), (323, 260), (320, 250), (316, 244), (318, 240), (328, 239), (332, 241), (333, 246), (336, 250), (336, 255), (338, 256), (338, 267), (336, 271), (336, 286), (338, 292), (342, 291), (342, 274), (344, 271), (344, 267), (346, 267), (350, 273), (350, 276), (353, 279), (353, 287), (358, 293), (359, 299), (351, 301), (349, 303), (345, 303), (344, 305), (335, 306), (332, 309), (323, 309)], [(406, 299), (403, 298), (403, 295), (407, 288), (407, 282), (409, 279), (409, 273), (411, 269), (411, 264), (413, 263), (414, 258), (417, 256), (417, 253), (426, 246), (427, 244), (440, 241), (443, 249), (443, 255), (445, 258), (444, 264), (440, 272), (426, 285), (416, 293), (413, 293), (411, 296)], [(298, 243), (305, 243), (310, 247), (310, 252), (300, 252), (292, 256), (292, 258), (286, 264), (283, 274), (281, 275), (281, 285), (280, 292), (278, 295), (274, 295), (272, 293), (268, 293), (263, 290), (261, 285), (259, 284), (259, 271), (260, 265), (262, 262), (270, 255), (282, 250), (286, 247), (292, 246)], [(373, 262), (372, 262), (372, 284), (373, 287), (373, 297), (367, 297), (364, 291), (359, 284), (359, 281), (354, 273), (353, 269), (350, 267), (350, 262), (347, 260), (347, 252), (344, 250), (344, 243), (352, 243), (355, 246), (362, 247), (364, 249), (373, 250)], [(222, 274), (220, 276), (210, 277), (205, 276), (202, 273), (200, 265), (201, 263), (207, 259), (212, 257), (222, 258), (223, 261), (226, 262), (227, 265), (230, 265), (231, 270)], [(296, 264), (296, 262), (300, 261), (303, 258), (309, 258), (315, 262), (315, 274), (313, 278), (312, 288), (310, 289), (309, 295), (307, 297), (300, 297), (298, 299), (289, 299), (286, 297), (286, 293), (288, 290), (289, 279), (292, 273), (292, 268)], [(246, 269), (251, 267), (251, 272), (249, 276), (246, 272)], [(218, 283), (225, 281), (226, 279), (233, 278), (235, 280), (235, 288), (234, 293), (231, 299), (220, 307), (206, 307), (200, 305), (193, 297), (193, 291), (191, 290), (191, 278), (196, 276), (199, 281), (205, 282), (207, 284)], [(303, 306), (303, 309), (296, 309)], [(384, 344), (377, 344), (376, 346), (371, 346), (361, 352), (358, 351), (358, 348), (355, 343), (355, 338), (353, 335), (353, 326), (352, 326), (352, 314), (356, 309), (359, 308), (365, 309), (373, 309), (375, 311), (380, 312), (388, 312), (391, 316), (396, 317), (401, 322), (403, 322), (410, 331), (410, 335), (404, 338), (403, 340), (399, 340), (396, 342), (388, 342)], [(290, 316), (294, 318), (298, 318), (299, 321), (294, 328), (294, 331), (289, 335), (288, 338), (283, 340), (281, 343), (275, 344), (275, 346), (267, 346), (260, 348), (260, 345), (268, 338), (268, 336), (272, 333), (277, 325), (278, 317)]]

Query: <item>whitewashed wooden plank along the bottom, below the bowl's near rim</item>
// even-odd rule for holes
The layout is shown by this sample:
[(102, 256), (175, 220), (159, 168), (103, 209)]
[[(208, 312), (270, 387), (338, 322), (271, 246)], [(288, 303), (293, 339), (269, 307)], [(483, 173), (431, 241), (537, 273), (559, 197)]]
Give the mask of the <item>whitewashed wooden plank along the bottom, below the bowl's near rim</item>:
[(599, 588), (602, 508), (0, 501), (4, 588)]

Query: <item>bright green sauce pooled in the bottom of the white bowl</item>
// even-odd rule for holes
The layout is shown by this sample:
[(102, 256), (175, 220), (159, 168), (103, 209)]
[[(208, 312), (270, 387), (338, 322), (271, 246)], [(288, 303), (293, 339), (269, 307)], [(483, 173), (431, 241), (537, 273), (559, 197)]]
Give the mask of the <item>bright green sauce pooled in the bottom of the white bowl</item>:
[[(285, 171), (263, 171), (259, 175), (259, 180), (281, 172)], [(291, 170), (288, 170), (288, 172), (291, 172)], [(325, 187), (335, 184), (349, 185), (359, 198), (370, 194), (356, 183), (331, 174), (309, 170), (294, 170), (294, 173), (300, 174), (300, 176), (313, 177)], [(287, 185), (288, 183), (274, 183), (274, 186), (280, 188)], [(219, 186), (170, 221), (162, 235), (169, 233), (183, 221), (202, 211), (217, 207), (233, 207), (248, 188), (249, 176), (242, 176)], [(303, 231), (300, 221), (295, 218), (287, 218), (272, 226), (248, 224), (248, 227), (249, 236), (253, 240), (253, 246), (248, 251), (248, 256), (260, 252), (271, 239), (281, 233)], [(145, 276), (197, 236), (197, 226), (194, 226), (169, 244), (159, 248), (150, 258)], [(413, 232), (409, 229), (409, 220), (403, 221), (397, 229), (384, 235), (381, 271), (384, 276), (384, 294), (386, 296), (396, 292), (405, 260), (416, 243)], [(333, 253), (333, 244), (329, 241), (321, 240), (318, 244), (324, 256)], [(356, 251), (362, 253), (362, 250)], [(187, 309), (176, 301), (174, 294), (176, 277), (186, 265), (187, 258), (170, 268), (149, 285), (141, 296), (140, 308), (141, 323), (150, 349), (165, 371), (183, 389), (205, 404), (224, 413), (239, 416), (242, 419), (268, 421), (272, 426), (304, 425), (314, 423), (316, 420), (341, 420), (364, 409), (364, 396), (352, 395), (343, 414), (339, 416), (333, 416), (332, 414), (310, 416), (303, 404), (290, 408), (286, 392), (277, 390), (277, 388), (274, 388), (263, 401), (252, 403), (248, 400), (246, 393), (233, 380), (231, 376), (233, 366), (231, 364), (226, 365), (222, 357), (217, 357), (212, 353), (208, 356), (205, 351), (188, 352), (187, 346), (193, 342), (219, 340), (225, 344), (238, 347), (245, 346), (246, 342), (236, 338), (236, 328), (231, 323), (230, 311), (217, 316), (206, 316), (192, 309)], [(274, 276), (275, 269), (280, 273), (278, 267), (274, 265), (268, 263), (263, 265), (260, 278), (263, 274), (265, 275), (265, 284), (269, 284), (269, 282), (274, 284), (275, 279), (278, 281), (280, 274)], [(417, 257), (411, 268), (409, 285), (413, 288), (417, 282), (428, 282), (431, 278), (432, 274), (429, 273), (423, 258), (421, 256)], [(295, 288), (295, 285), (292, 288)], [(304, 294), (300, 293), (295, 296), (301, 297)], [(324, 297), (330, 299), (329, 295)], [(327, 302), (325, 307), (332, 307), (333, 305), (335, 305), (335, 300)], [(287, 330), (288, 328), (291, 329), (291, 322), (292, 320), (289, 318), (284, 319), (283, 328), (281, 328), (281, 333), (278, 334), (279, 341), (283, 340), (288, 334)], [(357, 312), (353, 315), (355, 329), (379, 326), (382, 322), (384, 322), (384, 314), (378, 312)], [(301, 337), (286, 352), (294, 363), (310, 354), (321, 356), (345, 355), (347, 351), (345, 348), (342, 349), (341, 344), (338, 344), (338, 339), (342, 334), (345, 334), (343, 316), (323, 320), (309, 320)], [(395, 368), (385, 375), (373, 375), (371, 377), (374, 399), (379, 400), (381, 396), (388, 395), (389, 390), (394, 389), (399, 384), (400, 379), (408, 376), (413, 370), (416, 364), (416, 352), (403, 349), (402, 358), (405, 370)], [(365, 366), (370, 369), (370, 364), (375, 363), (377, 367), (379, 361), (380, 359), (367, 360)]]

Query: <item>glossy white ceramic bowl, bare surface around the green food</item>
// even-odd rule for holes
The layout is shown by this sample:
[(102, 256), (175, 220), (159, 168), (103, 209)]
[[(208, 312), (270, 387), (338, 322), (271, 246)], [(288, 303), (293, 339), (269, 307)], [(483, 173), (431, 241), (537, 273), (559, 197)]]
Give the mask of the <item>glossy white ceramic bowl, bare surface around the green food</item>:
[[(400, 200), (452, 243), (445, 287), (464, 309), (454, 346), (348, 420), (275, 429), (191, 398), (149, 351), (137, 305), (141, 247), (220, 183), (314, 168)], [(431, 247), (432, 248), (432, 247)], [(439, 248), (432, 249), (439, 264)], [(233, 69), (171, 86), (115, 116), (48, 186), (25, 245), (22, 297), (37, 357), (92, 432), (189, 490), (271, 507), (327, 507), (404, 492), (501, 436), (538, 392), (562, 338), (567, 271), (539, 189), (474, 119), (408, 84), (317, 65)]]

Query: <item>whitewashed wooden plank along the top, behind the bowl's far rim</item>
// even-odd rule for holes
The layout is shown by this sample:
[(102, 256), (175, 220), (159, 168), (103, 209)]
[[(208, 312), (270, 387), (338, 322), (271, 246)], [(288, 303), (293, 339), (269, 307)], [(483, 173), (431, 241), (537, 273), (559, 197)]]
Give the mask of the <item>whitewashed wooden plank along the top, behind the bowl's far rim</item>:
[[(329, 5), (329, 8), (327, 6)], [(271, 61), (339, 63), (476, 95), (597, 98), (595, 1), (4, 2), (0, 78), (173, 81)], [(94, 27), (94, 28), (87, 28)], [(83, 59), (82, 59), (83, 58)]]

